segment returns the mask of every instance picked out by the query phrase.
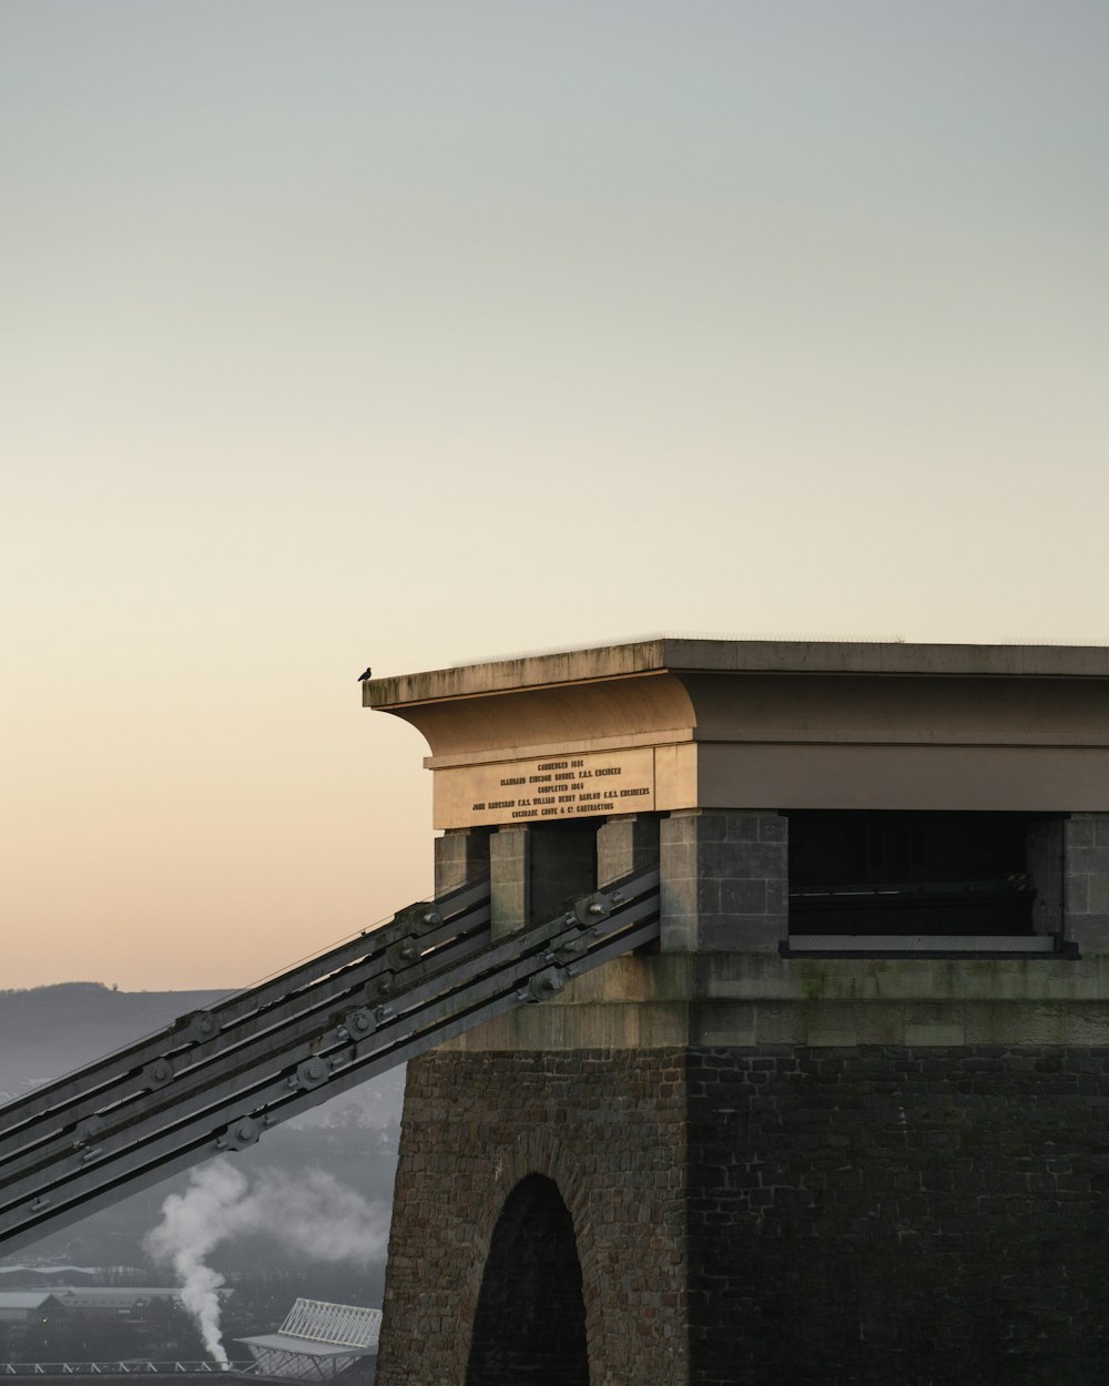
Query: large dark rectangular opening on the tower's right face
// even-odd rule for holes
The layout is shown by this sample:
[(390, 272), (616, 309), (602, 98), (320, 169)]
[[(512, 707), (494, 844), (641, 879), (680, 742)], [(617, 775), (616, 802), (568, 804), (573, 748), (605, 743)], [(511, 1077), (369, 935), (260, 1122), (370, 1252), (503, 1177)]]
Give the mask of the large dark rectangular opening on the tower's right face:
[[(1042, 929), (1031, 814), (789, 814), (793, 934), (1020, 936)], [(1041, 855), (1037, 850), (1033, 855)], [(1037, 880), (1037, 877), (1041, 877)]]

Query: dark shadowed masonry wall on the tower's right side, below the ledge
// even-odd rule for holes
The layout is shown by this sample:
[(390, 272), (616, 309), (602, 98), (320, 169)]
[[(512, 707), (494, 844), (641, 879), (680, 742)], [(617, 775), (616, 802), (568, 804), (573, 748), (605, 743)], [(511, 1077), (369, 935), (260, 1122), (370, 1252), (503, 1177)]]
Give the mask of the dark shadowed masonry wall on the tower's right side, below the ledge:
[(695, 1386), (1094, 1386), (1109, 1051), (689, 1055)]

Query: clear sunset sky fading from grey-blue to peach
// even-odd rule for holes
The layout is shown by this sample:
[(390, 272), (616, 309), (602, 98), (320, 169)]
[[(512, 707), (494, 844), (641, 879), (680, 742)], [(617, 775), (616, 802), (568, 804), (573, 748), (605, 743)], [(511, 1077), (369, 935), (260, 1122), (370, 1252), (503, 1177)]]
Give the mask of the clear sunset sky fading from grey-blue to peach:
[(1109, 639), (1105, 0), (3, 0), (0, 987), (430, 887), (358, 674)]

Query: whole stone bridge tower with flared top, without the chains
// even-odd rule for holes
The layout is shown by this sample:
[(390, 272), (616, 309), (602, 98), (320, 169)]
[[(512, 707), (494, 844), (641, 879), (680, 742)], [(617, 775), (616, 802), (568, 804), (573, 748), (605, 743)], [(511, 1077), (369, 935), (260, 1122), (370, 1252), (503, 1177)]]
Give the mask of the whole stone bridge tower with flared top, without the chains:
[(658, 639), (366, 685), (494, 926), (661, 938), (409, 1067), (378, 1386), (1109, 1367), (1109, 651)]

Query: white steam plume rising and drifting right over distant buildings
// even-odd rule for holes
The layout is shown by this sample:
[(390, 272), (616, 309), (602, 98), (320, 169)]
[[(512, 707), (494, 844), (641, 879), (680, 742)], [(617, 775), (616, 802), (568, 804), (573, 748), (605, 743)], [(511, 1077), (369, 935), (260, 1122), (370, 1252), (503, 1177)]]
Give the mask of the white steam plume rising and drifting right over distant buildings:
[(365, 1265), (384, 1254), (388, 1213), (323, 1170), (295, 1178), (259, 1170), (252, 1184), (225, 1159), (194, 1170), (190, 1188), (165, 1200), (144, 1245), (155, 1261), (172, 1264), (182, 1301), (220, 1367), (229, 1365), (216, 1295), (223, 1275), (207, 1261), (220, 1242), (248, 1235), (270, 1236), (317, 1261)]

